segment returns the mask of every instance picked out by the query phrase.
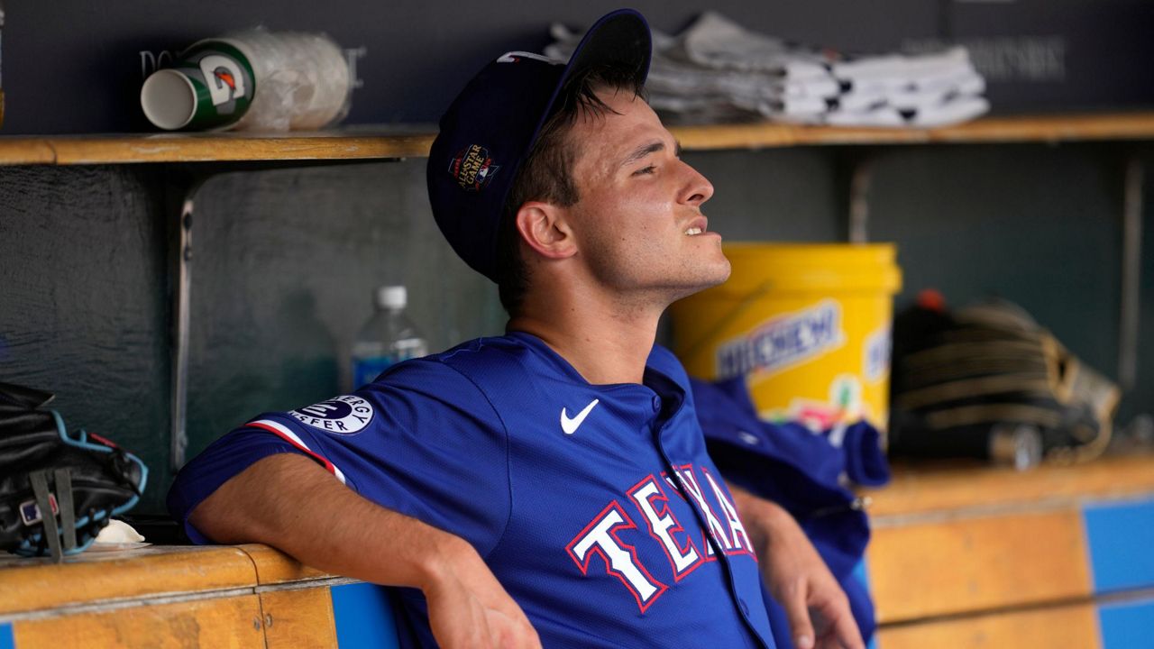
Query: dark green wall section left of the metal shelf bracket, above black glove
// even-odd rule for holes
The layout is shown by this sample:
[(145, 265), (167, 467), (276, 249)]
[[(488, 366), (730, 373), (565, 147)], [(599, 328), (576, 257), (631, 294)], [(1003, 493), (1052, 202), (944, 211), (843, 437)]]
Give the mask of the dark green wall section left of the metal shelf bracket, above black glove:
[(70, 428), (153, 469), (168, 425), (162, 177), (140, 166), (0, 167), (0, 381), (57, 394)]

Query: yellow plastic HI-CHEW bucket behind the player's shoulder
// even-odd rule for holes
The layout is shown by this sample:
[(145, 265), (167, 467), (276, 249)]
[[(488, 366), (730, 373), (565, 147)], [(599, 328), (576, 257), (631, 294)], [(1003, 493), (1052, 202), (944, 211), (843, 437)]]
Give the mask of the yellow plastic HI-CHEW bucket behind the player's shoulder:
[(672, 307), (674, 351), (703, 379), (744, 375), (763, 419), (811, 428), (889, 417), (892, 244), (726, 244), (733, 274)]

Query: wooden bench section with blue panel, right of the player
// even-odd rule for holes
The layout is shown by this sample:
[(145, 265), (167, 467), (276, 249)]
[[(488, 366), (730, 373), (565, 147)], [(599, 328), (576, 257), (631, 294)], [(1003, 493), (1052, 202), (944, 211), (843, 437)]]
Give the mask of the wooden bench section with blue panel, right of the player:
[(882, 649), (1154, 647), (1154, 457), (904, 469), (869, 495)]

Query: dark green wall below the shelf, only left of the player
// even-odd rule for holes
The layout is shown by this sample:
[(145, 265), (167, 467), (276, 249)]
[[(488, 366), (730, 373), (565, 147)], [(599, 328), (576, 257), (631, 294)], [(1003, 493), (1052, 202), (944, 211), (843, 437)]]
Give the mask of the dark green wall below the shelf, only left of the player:
[[(202, 167), (203, 169), (203, 167)], [(196, 195), (189, 454), (343, 389), (379, 284), (410, 285), (434, 349), (501, 333), (496, 290), (436, 230), (424, 161), (226, 173)], [(0, 167), (0, 381), (168, 470), (171, 306), (157, 166)]]

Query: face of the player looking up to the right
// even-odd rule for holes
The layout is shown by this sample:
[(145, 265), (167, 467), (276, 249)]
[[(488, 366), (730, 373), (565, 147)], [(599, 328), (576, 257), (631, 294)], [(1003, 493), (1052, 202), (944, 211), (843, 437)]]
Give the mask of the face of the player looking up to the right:
[(582, 255), (599, 283), (666, 304), (725, 282), (721, 237), (702, 203), (713, 186), (683, 163), (673, 135), (631, 92), (601, 91), (614, 111), (582, 114), (569, 133), (578, 201), (569, 208)]

